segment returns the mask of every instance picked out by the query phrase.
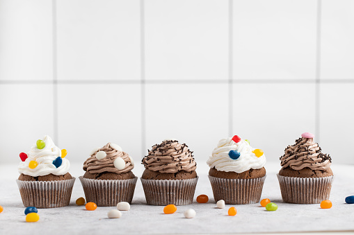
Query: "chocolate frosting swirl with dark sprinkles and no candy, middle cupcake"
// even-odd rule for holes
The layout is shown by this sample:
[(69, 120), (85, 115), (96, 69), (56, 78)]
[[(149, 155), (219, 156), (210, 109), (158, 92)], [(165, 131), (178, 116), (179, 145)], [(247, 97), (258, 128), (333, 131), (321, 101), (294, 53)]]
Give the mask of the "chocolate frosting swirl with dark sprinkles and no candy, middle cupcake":
[(167, 140), (152, 146), (152, 150), (142, 160), (142, 164), (150, 171), (161, 173), (177, 173), (179, 171), (195, 171), (197, 163), (193, 158), (193, 152), (188, 149), (186, 143), (178, 143), (177, 140)]

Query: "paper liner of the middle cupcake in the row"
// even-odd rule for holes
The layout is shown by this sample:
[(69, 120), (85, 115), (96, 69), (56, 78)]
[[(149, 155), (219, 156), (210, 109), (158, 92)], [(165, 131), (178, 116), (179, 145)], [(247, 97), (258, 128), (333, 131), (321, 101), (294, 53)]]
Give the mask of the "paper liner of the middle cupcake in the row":
[(140, 180), (147, 204), (182, 206), (193, 203), (198, 176), (187, 180)]

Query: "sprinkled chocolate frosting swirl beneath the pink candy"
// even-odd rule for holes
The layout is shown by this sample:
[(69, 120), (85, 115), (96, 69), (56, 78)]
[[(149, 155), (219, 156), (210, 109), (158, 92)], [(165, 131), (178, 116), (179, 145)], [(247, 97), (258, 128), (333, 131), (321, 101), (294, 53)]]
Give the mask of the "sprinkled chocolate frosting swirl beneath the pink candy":
[(330, 168), (332, 159), (330, 155), (321, 153), (318, 143), (313, 138), (299, 138), (292, 146), (285, 148), (285, 153), (280, 157), (283, 168), (290, 167), (299, 171), (305, 167), (312, 170), (325, 171)]

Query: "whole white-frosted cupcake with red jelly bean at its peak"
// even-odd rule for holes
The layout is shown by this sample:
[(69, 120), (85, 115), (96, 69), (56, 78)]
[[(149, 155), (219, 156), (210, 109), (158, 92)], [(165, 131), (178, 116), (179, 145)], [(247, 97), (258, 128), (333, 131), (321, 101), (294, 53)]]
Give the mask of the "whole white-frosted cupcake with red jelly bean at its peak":
[(207, 164), (214, 199), (225, 204), (252, 204), (261, 199), (266, 156), (237, 135), (221, 139)]

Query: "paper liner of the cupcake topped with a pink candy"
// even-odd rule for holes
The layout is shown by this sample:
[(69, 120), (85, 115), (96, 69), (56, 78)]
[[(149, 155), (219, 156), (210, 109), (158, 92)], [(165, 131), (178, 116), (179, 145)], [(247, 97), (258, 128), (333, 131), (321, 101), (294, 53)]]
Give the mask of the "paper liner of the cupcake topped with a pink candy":
[(277, 174), (277, 179), (284, 202), (316, 204), (330, 198), (333, 175), (319, 178), (300, 178)]

